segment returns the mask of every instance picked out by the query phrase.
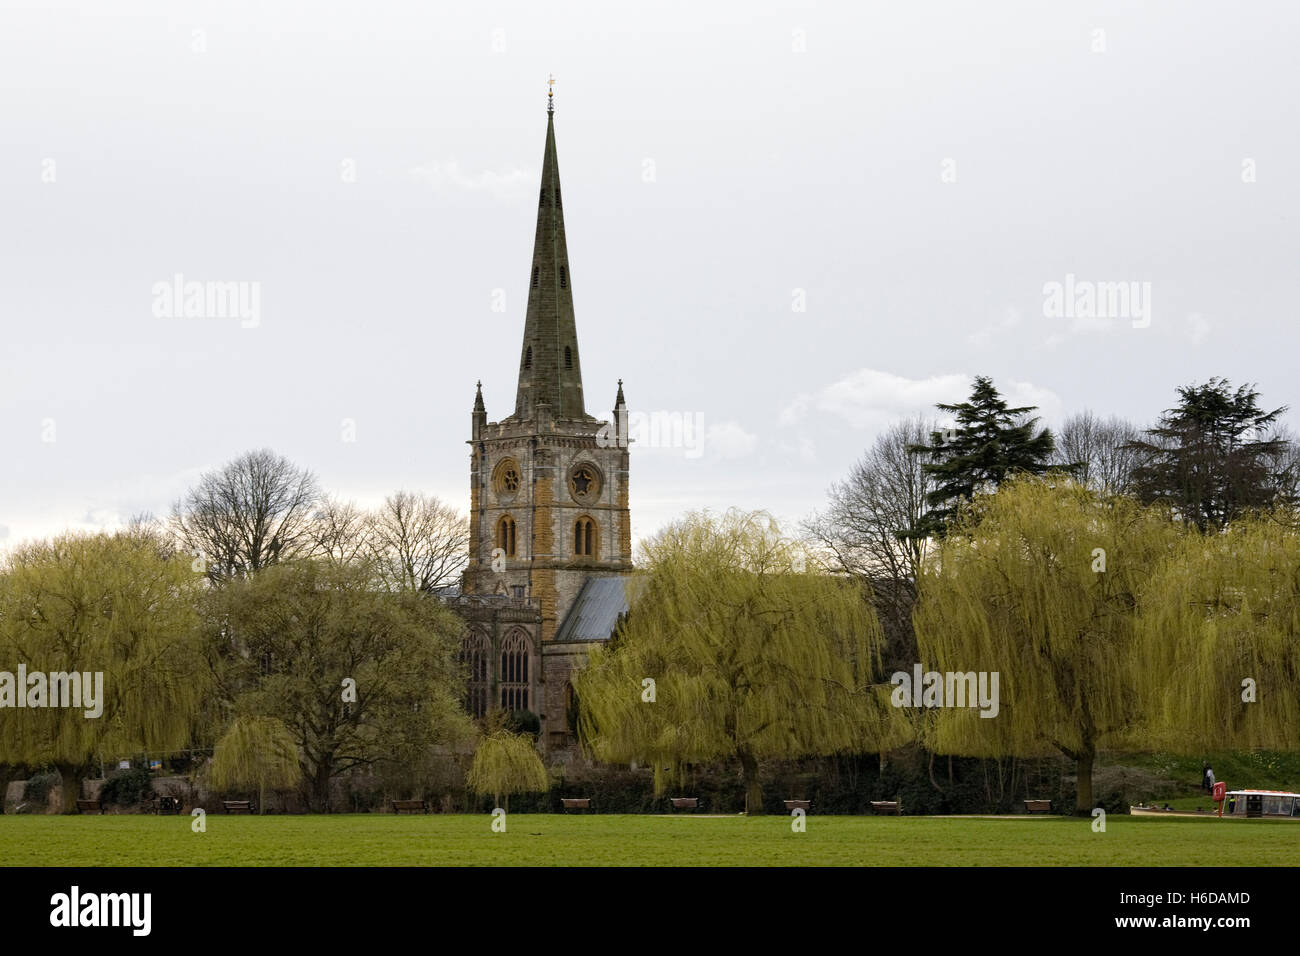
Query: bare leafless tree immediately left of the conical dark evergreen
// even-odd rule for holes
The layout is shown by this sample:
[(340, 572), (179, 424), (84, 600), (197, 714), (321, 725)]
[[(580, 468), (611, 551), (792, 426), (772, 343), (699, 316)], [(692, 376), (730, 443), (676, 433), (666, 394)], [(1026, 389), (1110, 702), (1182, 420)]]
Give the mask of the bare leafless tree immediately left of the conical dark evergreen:
[(836, 570), (888, 580), (894, 600), (907, 605), (928, 548), (926, 537), (911, 532), (928, 511), (926, 496), (933, 488), (924, 454), (911, 449), (936, 428), (920, 416), (890, 425), (849, 477), (831, 485), (827, 510), (803, 523)]

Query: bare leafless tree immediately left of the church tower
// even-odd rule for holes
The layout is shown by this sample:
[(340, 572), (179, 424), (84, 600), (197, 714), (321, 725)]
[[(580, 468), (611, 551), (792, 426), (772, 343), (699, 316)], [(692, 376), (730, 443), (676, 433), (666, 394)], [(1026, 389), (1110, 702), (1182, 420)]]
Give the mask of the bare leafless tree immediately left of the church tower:
[(398, 492), (370, 512), (369, 542), (389, 587), (432, 592), (464, 570), (469, 522), (432, 494)]

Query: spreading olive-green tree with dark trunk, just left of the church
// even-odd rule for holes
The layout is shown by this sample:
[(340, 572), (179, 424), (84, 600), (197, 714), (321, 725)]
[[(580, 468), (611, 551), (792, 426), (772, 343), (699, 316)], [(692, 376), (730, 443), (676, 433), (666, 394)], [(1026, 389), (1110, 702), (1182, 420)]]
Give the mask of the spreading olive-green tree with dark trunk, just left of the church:
[(209, 593), (205, 648), (228, 713), (291, 734), (316, 809), (330, 780), (467, 739), (460, 620), (417, 592), (374, 587), (367, 564), (302, 559)]

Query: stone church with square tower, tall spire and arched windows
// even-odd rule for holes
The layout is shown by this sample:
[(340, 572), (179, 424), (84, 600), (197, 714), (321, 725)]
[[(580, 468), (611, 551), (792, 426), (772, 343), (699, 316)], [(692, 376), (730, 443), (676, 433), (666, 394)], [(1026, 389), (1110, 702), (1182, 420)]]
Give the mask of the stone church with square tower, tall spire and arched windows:
[[(627, 421), (621, 380), (611, 411)], [(589, 415), (582, 395), (552, 99), (515, 410), (489, 421), (480, 382), (471, 429), (469, 564), (451, 601), (468, 626), (467, 708), (537, 714), (562, 757), (573, 669), (628, 607), (632, 519), (625, 428)]]

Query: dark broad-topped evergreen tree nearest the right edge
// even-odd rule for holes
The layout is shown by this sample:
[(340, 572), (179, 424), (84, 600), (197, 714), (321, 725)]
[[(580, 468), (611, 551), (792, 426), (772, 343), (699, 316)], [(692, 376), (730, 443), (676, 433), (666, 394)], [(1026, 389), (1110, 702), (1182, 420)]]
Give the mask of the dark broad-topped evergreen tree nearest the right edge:
[(1275, 431), (1286, 406), (1262, 411), (1258, 392), (1234, 390), (1226, 378), (1187, 385), (1178, 395), (1178, 407), (1147, 431), (1149, 440), (1131, 445), (1143, 459), (1134, 472), (1139, 498), (1170, 506), (1201, 532), (1244, 511), (1290, 503), (1279, 502), (1290, 483), (1277, 473), (1288, 445)]

